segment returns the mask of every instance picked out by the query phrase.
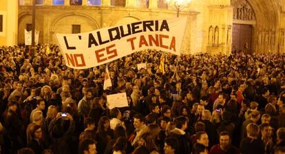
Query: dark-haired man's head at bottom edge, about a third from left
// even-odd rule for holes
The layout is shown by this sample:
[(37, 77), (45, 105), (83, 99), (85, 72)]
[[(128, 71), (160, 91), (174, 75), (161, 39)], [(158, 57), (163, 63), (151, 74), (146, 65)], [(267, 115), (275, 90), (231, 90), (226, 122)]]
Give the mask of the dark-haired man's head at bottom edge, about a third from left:
[(96, 142), (93, 139), (83, 139), (79, 143), (79, 154), (96, 154)]

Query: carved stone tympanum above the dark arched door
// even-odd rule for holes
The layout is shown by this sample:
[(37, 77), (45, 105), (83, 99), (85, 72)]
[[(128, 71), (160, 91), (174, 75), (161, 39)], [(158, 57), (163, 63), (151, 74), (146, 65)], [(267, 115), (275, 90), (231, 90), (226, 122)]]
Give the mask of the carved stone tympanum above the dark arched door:
[(233, 9), (233, 19), (238, 20), (255, 20), (255, 14), (253, 8), (249, 5), (246, 0), (231, 1)]

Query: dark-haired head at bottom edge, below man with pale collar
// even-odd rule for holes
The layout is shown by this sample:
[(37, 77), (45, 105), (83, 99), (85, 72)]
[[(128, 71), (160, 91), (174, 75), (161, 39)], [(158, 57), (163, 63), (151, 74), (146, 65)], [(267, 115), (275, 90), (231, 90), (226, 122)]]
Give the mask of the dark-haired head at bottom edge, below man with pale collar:
[(165, 154), (175, 154), (178, 153), (179, 145), (178, 140), (175, 137), (167, 137), (165, 139)]

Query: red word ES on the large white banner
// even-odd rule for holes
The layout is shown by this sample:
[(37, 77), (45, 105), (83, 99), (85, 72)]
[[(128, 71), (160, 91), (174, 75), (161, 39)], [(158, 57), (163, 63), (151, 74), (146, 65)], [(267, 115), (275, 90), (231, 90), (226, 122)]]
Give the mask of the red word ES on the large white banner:
[[(117, 57), (118, 56), (118, 52), (117, 52), (116, 48), (114, 49), (115, 46), (116, 46), (115, 44), (112, 44), (111, 46), (107, 46), (106, 48), (101, 48), (99, 50), (95, 50), (95, 55), (96, 55), (97, 62), (101, 63), (103, 61), (107, 61), (107, 59), (111, 59), (111, 58)], [(105, 54), (102, 53), (105, 50), (106, 50), (106, 55), (108, 55), (108, 57), (105, 57)]]

